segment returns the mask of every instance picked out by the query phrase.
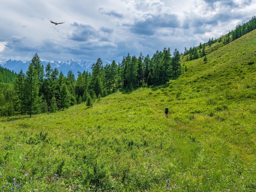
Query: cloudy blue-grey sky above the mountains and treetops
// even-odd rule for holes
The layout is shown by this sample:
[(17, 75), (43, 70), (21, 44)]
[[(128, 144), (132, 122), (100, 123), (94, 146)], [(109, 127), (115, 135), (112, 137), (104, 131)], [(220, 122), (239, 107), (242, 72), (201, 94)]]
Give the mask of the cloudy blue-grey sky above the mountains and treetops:
[(255, 15), (255, 0), (1, 0), (0, 60), (151, 58), (218, 38)]

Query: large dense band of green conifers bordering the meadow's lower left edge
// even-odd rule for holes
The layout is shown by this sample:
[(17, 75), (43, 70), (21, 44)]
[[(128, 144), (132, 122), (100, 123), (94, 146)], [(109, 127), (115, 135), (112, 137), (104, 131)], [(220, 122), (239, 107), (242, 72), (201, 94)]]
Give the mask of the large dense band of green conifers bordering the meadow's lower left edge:
[(67, 76), (50, 63), (44, 69), (36, 53), (26, 72), (20, 70), (13, 83), (0, 83), (0, 115), (53, 113), (86, 102), (88, 107), (117, 89), (131, 91), (135, 87), (161, 85), (186, 71), (180, 63), (180, 52), (170, 48), (156, 51), (152, 58), (129, 53), (121, 63), (115, 60), (103, 66), (101, 58), (92, 65), (92, 72), (72, 71)]

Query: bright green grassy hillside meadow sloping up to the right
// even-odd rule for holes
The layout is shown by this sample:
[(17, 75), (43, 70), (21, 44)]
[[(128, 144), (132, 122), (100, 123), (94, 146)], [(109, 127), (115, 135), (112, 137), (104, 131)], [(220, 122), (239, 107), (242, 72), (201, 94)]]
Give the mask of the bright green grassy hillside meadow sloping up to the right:
[(1, 118), (2, 190), (255, 191), (255, 36), (164, 86)]

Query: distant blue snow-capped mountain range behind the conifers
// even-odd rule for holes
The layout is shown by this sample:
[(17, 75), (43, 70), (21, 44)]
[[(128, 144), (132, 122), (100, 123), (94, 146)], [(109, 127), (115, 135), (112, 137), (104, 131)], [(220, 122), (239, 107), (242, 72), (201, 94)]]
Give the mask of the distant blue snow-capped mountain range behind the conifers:
[[(78, 74), (77, 72), (80, 71), (83, 73), (83, 71), (88, 71), (88, 72), (92, 72), (92, 64), (96, 63), (97, 61), (88, 61), (88, 60), (67, 60), (67, 61), (41, 61), (41, 63), (43, 64), (44, 67), (46, 67), (46, 65), (48, 63), (51, 64), (52, 69), (58, 69), (59, 72), (63, 72), (64, 76), (67, 76), (67, 72), (68, 71), (72, 71), (73, 74), (77, 77)], [(2, 67), (7, 68), (13, 72), (16, 72), (17, 74), (20, 72), (20, 69), (22, 69), (22, 71), (24, 73), (26, 73), (29, 63), (31, 63), (30, 61), (21, 61), (21, 60), (13, 60), (13, 59), (9, 59), (9, 60), (0, 60), (0, 65), (2, 65)], [(102, 60), (103, 66), (107, 65), (107, 64), (111, 64), (110, 61), (108, 60)]]

